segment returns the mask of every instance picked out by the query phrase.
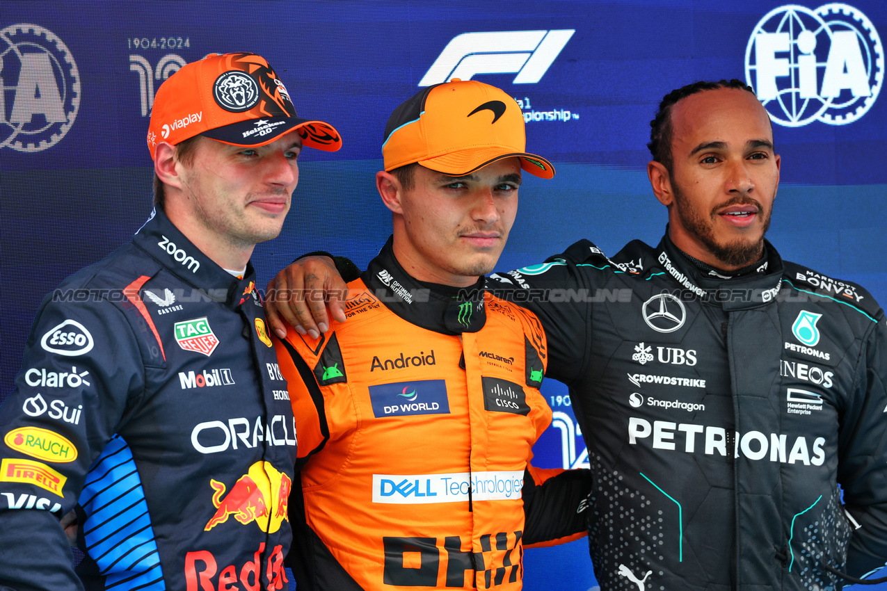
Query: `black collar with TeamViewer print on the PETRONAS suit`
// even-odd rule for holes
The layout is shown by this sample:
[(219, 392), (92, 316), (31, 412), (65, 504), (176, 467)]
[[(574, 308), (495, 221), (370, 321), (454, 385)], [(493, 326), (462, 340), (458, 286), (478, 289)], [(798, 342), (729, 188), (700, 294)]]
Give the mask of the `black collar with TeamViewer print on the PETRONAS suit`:
[(767, 240), (765, 255), (755, 272), (736, 277), (712, 276), (689, 261), (668, 236), (656, 247), (656, 262), (666, 275), (693, 292), (703, 302), (725, 310), (743, 310), (773, 301), (781, 288), (782, 259)]

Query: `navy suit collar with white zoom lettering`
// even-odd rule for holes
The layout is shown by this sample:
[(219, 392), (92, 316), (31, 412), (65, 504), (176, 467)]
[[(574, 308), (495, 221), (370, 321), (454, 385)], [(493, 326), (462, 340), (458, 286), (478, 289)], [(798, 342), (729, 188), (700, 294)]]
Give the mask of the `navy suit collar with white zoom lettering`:
[(262, 302), (262, 294), (255, 289), (255, 269), (251, 262), (242, 279), (219, 267), (200, 252), (176, 227), (162, 210), (154, 208), (147, 222), (138, 229), (132, 243), (142, 249), (197, 291), (195, 297), (210, 299), (232, 309), (252, 296)]

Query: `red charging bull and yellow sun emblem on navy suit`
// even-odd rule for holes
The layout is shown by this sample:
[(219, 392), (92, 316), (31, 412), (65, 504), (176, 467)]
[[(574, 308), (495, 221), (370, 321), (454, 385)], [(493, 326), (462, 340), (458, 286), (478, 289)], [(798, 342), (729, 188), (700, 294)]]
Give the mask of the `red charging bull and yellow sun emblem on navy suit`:
[(243, 525), (255, 521), (267, 533), (277, 532), (284, 519), (289, 521), (287, 509), (293, 481), (271, 463), (254, 463), (246, 474), (238, 478), (228, 494), (225, 494), (222, 482), (210, 480), (209, 486), (216, 491), (213, 493), (216, 514), (203, 528), (207, 532), (216, 525), (224, 524), (232, 515)]

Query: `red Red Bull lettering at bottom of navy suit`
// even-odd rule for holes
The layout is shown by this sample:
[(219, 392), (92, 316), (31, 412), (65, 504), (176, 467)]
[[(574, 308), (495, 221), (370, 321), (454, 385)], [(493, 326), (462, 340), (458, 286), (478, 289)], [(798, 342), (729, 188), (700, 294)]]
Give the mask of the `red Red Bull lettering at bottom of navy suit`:
[[(288, 480), (289, 478), (287, 478)], [(265, 542), (259, 543), (259, 549), (252, 560), (238, 567), (236, 564), (224, 566), (219, 572), (216, 556), (208, 550), (188, 552), (184, 555), (184, 580), (187, 591), (214, 591), (215, 589), (233, 589), (238, 580), (244, 589), (249, 591), (281, 591), (284, 583), (289, 582), (287, 572), (283, 568), (283, 547), (275, 546), (262, 570), (262, 553)], [(224, 564), (224, 563), (222, 563)], [(238, 579), (239, 573), (239, 579)], [(265, 585), (262, 585), (264, 574)], [(216, 575), (218, 577), (216, 578)], [(216, 579), (216, 580), (214, 580)], [(239, 587), (238, 587), (239, 588)]]

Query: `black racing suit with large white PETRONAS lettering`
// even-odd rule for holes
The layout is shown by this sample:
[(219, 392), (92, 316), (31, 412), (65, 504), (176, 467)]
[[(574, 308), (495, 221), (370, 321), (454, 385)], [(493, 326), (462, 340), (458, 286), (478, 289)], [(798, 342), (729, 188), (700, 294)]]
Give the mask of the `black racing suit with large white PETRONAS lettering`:
[(859, 286), (769, 243), (756, 272), (706, 275), (667, 237), (492, 278), (569, 385), (601, 589), (840, 588), (884, 564), (887, 329)]

